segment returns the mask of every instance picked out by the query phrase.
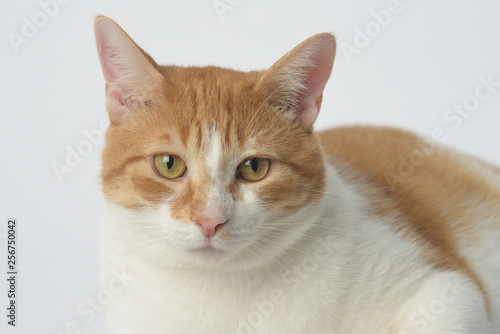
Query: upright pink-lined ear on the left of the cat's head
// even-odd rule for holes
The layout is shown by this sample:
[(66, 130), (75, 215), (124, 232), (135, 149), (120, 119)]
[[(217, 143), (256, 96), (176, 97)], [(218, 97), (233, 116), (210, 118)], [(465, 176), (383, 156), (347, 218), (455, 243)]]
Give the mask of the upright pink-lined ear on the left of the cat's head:
[(165, 84), (156, 63), (105, 16), (95, 20), (95, 38), (106, 80), (106, 108), (112, 123), (119, 123), (132, 106), (147, 105)]

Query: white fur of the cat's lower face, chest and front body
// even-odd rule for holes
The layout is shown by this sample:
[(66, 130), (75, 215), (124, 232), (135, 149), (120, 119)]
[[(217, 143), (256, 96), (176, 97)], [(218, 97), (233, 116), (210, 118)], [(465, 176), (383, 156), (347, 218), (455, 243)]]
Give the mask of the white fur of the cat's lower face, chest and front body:
[(320, 204), (286, 219), (245, 190), (227, 203), (229, 238), (214, 238), (227, 255), (190, 254), (204, 236), (166, 206), (108, 204), (103, 282), (113, 269), (134, 277), (107, 308), (111, 333), (498, 333), (472, 282), (425, 262), (424, 246), (369, 216), (363, 189), (332, 167), (327, 184)]

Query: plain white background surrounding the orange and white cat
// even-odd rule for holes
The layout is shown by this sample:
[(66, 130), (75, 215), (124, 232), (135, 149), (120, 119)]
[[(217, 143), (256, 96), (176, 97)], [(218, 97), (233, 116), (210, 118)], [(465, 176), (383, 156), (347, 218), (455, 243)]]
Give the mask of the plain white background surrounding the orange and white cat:
[[(105, 333), (100, 313), (90, 322), (77, 313), (101, 293), (102, 141), (62, 181), (53, 171), (55, 162), (66, 164), (68, 148), (84, 145), (83, 131), (98, 129), (106, 117), (93, 36), (96, 14), (116, 20), (159, 63), (251, 70), (270, 66), (319, 32), (333, 32), (339, 44), (356, 46), (356, 29), (371, 26), (371, 12), (386, 9), (390, 1), (220, 2), (233, 3), (223, 19), (213, 0), (71, 0), (16, 52), (9, 34), (22, 36), (23, 18), (33, 22), (43, 9), (34, 0), (2, 0), (2, 333), (72, 333), (64, 330), (71, 322), (81, 333)], [(500, 81), (499, 13), (495, 0), (400, 0), (399, 13), (371, 31), (370, 43), (358, 54), (347, 57), (338, 50), (317, 128), (381, 124), (429, 136), (440, 127), (446, 145), (500, 164), (500, 87), (456, 129), (443, 120), (447, 109), (474, 94), (480, 76)], [(4, 315), (10, 217), (20, 224), (16, 328), (6, 325)]]

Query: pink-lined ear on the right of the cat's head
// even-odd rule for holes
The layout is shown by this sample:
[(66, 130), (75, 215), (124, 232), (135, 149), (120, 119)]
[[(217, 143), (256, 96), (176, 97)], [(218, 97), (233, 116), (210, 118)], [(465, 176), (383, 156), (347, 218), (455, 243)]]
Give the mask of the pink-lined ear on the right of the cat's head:
[(310, 130), (318, 117), (335, 51), (332, 34), (314, 35), (265, 71), (255, 89), (269, 103), (295, 110), (300, 126)]

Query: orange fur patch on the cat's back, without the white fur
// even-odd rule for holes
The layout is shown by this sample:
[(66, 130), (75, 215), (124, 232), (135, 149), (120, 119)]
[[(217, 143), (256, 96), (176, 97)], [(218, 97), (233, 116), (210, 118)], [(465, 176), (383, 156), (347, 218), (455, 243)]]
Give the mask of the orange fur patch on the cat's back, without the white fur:
[[(427, 249), (426, 259), (438, 268), (458, 270), (488, 293), (477, 272), (460, 254), (457, 242), (474, 242), (475, 208), (489, 202), (500, 210), (500, 193), (486, 179), (451, 151), (435, 148), (399, 182), (391, 184), (389, 173), (398, 173), (399, 157), (408, 159), (420, 150), (417, 136), (401, 130), (376, 127), (345, 127), (319, 134), (329, 160), (356, 175), (356, 182), (369, 184), (372, 212), (384, 217), (397, 214), (396, 226), (408, 238)], [(392, 185), (392, 186), (391, 186)]]

